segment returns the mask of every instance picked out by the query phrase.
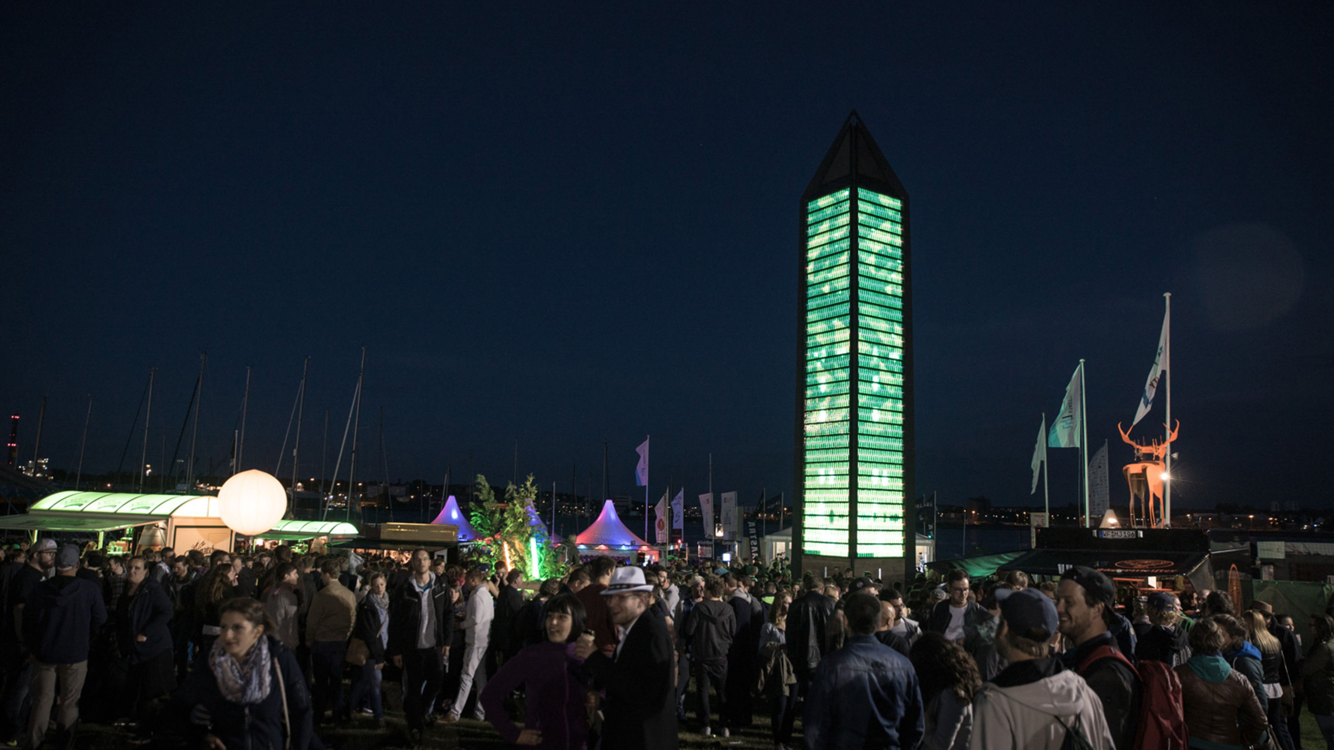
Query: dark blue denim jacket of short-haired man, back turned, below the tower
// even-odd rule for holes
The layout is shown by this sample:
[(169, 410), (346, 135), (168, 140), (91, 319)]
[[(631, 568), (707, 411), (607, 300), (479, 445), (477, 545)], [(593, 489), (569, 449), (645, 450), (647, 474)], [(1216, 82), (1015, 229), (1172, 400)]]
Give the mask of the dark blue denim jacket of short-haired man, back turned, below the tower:
[(912, 663), (871, 635), (851, 635), (811, 679), (807, 747), (914, 749), (926, 733)]

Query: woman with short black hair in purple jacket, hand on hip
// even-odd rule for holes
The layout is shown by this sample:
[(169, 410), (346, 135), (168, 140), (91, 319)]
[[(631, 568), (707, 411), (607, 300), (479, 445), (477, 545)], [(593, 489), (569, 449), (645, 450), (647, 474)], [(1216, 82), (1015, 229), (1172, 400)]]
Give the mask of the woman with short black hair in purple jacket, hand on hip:
[[(584, 629), (584, 607), (572, 594), (559, 594), (547, 602), (543, 617), (547, 641), (528, 646), (507, 661), (487, 681), (482, 706), (487, 721), (506, 742), (583, 750), (588, 742), (584, 699), (588, 685), (583, 659), (574, 655), (575, 639)], [(526, 686), (527, 715), (520, 730), (506, 714), (502, 701), (519, 685)]]

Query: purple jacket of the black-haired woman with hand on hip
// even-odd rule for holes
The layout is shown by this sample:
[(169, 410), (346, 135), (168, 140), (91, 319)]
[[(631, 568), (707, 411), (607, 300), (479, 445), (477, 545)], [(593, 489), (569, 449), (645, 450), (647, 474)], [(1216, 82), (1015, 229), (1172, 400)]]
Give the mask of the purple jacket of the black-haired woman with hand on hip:
[(547, 641), (528, 646), (487, 679), (479, 701), (487, 711), (487, 719), (506, 742), (519, 738), (519, 727), (510, 721), (503, 705), (504, 698), (519, 685), (524, 686), (528, 706), (524, 729), (542, 731), (542, 745), (538, 747), (584, 747), (588, 741), (584, 709), (588, 685), (583, 659), (574, 654), (574, 643)]

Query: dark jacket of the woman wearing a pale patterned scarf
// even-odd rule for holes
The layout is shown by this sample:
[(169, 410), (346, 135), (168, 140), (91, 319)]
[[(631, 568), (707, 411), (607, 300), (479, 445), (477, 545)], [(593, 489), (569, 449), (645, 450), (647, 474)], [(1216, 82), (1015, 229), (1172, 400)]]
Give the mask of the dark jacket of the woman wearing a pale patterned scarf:
[[(287, 690), (287, 715), (291, 722), (292, 750), (307, 750), (313, 734), (311, 695), (305, 690), (305, 678), (296, 663), (296, 657), (281, 641), (272, 635), (268, 638), (269, 666), (276, 671), (271, 674), (271, 687), (268, 697), (252, 706), (243, 706), (223, 698), (217, 690), (217, 678), (208, 666), (208, 659), (203, 658), (199, 667), (185, 677), (185, 682), (172, 695), (168, 717), (177, 722), (187, 735), (201, 737), (205, 733), (213, 734), (223, 741), (228, 749), (243, 750), (281, 750), (283, 737), (283, 690), (277, 681), (283, 681)], [(200, 711), (203, 709), (203, 711)], [(191, 723), (193, 717), (207, 715), (208, 726)]]

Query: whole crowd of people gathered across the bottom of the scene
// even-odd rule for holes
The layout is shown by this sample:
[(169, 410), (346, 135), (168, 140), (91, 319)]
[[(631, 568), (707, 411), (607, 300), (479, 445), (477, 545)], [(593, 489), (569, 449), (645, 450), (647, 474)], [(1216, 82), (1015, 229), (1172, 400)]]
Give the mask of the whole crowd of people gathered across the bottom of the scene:
[(594, 557), (527, 582), (426, 549), (40, 540), (0, 569), (0, 742), (76, 747), (83, 718), (132, 745), (320, 749), (324, 727), (387, 730), (398, 682), (414, 743), (467, 717), (551, 749), (674, 749), (684, 730), (787, 750), (799, 722), (812, 750), (1299, 750), (1305, 702), (1334, 749), (1334, 618), (1303, 649), (1267, 603), (1201, 594), (1127, 601), (1081, 566), (904, 586)]

